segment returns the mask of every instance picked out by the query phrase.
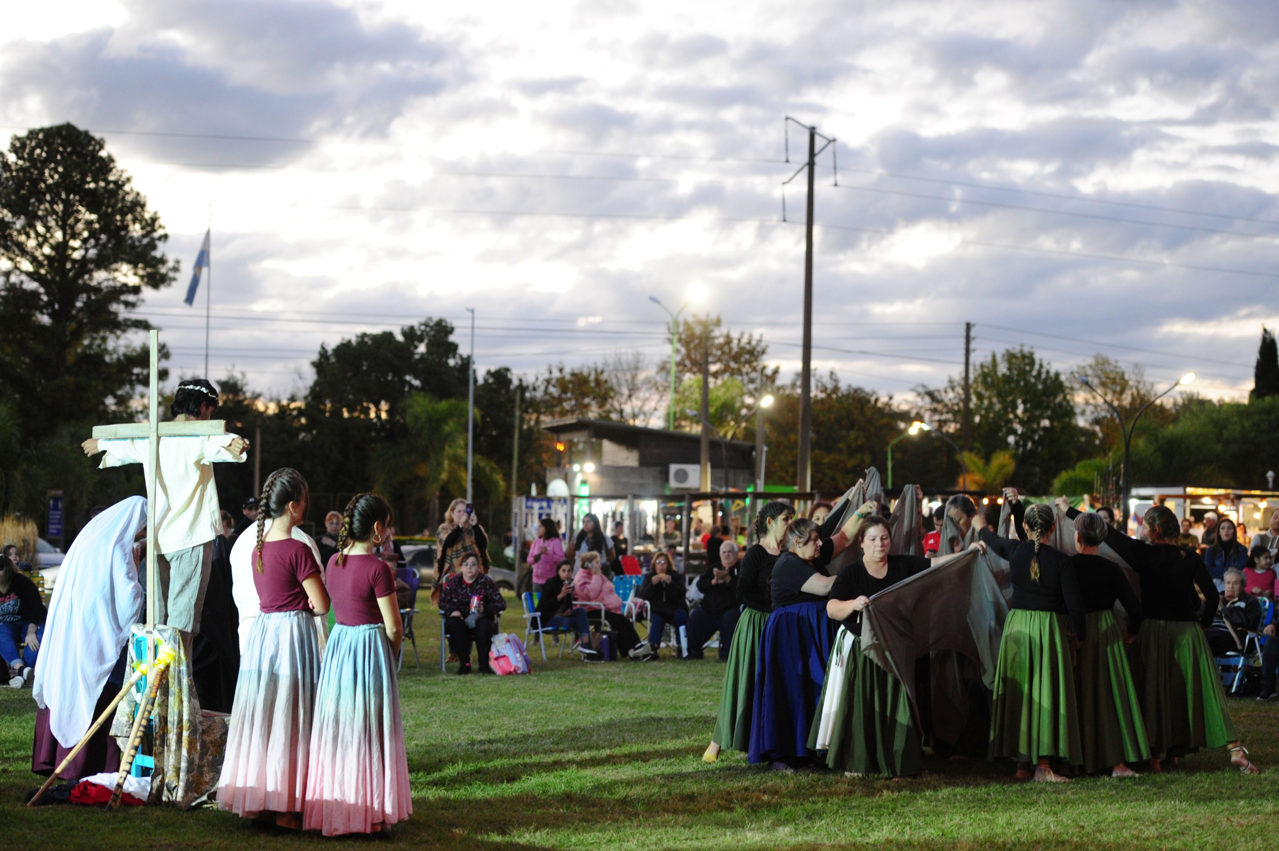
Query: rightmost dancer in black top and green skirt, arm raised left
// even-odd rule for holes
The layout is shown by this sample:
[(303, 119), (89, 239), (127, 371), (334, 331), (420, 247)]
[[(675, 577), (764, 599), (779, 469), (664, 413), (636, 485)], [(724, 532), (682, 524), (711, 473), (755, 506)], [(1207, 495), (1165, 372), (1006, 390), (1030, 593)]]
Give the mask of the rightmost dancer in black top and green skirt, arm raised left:
[[(1072, 520), (1081, 513), (1065, 499), (1058, 499), (1058, 505)], [(1115, 529), (1106, 531), (1105, 543), (1141, 577), (1145, 621), (1134, 642), (1133, 681), (1150, 740), (1150, 768), (1157, 772), (1163, 760), (1200, 747), (1225, 747), (1236, 768), (1257, 774), (1234, 732), (1221, 678), (1201, 628), (1212, 622), (1216, 612), (1219, 595), (1212, 576), (1198, 553), (1177, 545), (1181, 523), (1165, 505), (1146, 511), (1142, 529), (1149, 544)], [(1202, 616), (1196, 587), (1205, 599)]]

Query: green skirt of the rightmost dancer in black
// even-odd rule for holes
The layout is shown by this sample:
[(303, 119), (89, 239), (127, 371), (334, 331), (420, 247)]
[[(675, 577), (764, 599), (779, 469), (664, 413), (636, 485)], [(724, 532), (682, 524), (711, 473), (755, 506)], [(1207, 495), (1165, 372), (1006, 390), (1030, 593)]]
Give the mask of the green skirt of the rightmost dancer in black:
[(1238, 738), (1198, 623), (1142, 621), (1132, 648), (1133, 681), (1154, 756), (1225, 747)]

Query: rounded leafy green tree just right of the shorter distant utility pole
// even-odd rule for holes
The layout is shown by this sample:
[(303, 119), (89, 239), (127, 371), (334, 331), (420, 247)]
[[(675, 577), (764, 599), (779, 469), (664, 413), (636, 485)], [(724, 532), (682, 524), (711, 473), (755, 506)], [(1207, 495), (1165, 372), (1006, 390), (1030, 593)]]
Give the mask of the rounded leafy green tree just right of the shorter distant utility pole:
[[(962, 422), (963, 385), (921, 388), (934, 424)], [(978, 362), (972, 380), (972, 439), (984, 456), (1010, 449), (1017, 461), (1013, 484), (1042, 493), (1074, 463), (1079, 426), (1071, 389), (1059, 372), (1027, 348), (1005, 349)]]

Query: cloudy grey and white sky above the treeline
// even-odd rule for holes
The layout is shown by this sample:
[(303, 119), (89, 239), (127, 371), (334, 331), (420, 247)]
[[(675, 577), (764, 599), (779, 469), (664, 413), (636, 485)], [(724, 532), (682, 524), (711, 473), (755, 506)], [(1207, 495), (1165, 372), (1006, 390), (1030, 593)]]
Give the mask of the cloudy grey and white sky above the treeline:
[[(657, 358), (693, 297), (898, 397), (975, 351), (1105, 352), (1241, 398), (1279, 325), (1273, 3), (0, 1), (0, 125), (102, 134), (171, 234), (212, 216), (211, 374), (288, 393), (423, 316), (481, 367)], [(790, 155), (807, 138), (790, 125)], [(466, 344), (466, 335), (460, 335)]]

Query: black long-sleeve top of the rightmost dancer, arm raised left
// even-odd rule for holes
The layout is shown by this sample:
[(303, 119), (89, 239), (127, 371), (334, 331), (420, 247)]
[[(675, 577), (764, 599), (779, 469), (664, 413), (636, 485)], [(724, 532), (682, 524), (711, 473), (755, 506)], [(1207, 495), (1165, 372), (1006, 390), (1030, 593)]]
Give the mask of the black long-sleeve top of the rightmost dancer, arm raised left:
[[(1072, 508), (1067, 516), (1074, 520), (1079, 511)], [(1212, 623), (1220, 595), (1198, 553), (1175, 544), (1137, 541), (1117, 529), (1106, 531), (1106, 544), (1141, 577), (1141, 608), (1146, 618), (1198, 621), (1205, 627)], [(1195, 586), (1207, 601), (1202, 613)]]

